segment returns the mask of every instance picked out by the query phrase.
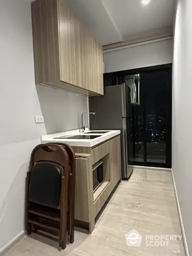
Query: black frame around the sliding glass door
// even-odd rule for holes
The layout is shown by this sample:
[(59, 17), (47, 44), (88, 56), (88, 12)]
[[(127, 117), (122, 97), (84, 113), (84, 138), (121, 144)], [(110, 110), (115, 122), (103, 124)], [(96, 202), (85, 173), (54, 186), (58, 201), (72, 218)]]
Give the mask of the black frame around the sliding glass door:
[[(149, 167), (162, 167), (162, 168), (171, 168), (172, 166), (172, 63), (163, 64), (163, 65), (156, 65), (132, 70), (123, 70), (118, 72), (112, 72), (115, 76), (117, 76), (117, 81), (120, 83), (124, 82), (124, 77), (127, 75), (132, 75), (136, 73), (144, 73), (146, 71), (156, 71), (167, 69), (169, 72), (169, 120), (168, 120), (168, 134), (166, 135), (166, 164), (163, 163), (153, 163), (153, 162), (131, 162), (129, 160), (129, 164), (138, 165), (138, 166), (149, 166)], [(145, 150), (146, 151), (146, 150)], [(146, 158), (146, 156), (144, 157)], [(146, 159), (145, 159), (146, 160)]]

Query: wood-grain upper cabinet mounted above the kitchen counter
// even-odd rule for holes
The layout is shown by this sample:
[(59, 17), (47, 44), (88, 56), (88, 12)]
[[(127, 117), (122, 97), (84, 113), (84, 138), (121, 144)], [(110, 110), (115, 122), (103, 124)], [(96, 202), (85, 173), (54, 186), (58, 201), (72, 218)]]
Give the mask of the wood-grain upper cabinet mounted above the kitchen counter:
[(66, 0), (32, 2), (32, 24), (36, 84), (102, 95), (102, 46)]

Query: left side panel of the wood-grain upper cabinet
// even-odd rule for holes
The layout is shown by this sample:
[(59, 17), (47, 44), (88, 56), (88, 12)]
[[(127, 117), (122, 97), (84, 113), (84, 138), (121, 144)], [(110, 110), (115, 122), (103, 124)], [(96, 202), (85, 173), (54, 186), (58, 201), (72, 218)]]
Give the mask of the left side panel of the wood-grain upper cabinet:
[(60, 79), (57, 0), (32, 2), (32, 28), (36, 84)]

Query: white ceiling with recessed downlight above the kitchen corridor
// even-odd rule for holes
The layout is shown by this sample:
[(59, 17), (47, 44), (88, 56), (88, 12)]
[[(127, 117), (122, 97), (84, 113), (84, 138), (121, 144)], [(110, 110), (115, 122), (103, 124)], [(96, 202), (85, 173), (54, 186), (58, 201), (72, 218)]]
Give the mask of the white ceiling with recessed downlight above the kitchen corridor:
[(175, 0), (67, 0), (102, 45), (172, 32)]

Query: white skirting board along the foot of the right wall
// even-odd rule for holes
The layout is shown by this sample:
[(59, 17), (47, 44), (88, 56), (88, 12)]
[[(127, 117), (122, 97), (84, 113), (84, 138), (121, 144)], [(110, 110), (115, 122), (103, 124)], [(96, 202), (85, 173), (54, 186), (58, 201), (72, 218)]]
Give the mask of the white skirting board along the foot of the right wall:
[(176, 198), (176, 202), (177, 202), (178, 214), (179, 214), (179, 219), (180, 219), (180, 228), (181, 228), (181, 233), (182, 233), (182, 237), (183, 237), (185, 254), (186, 254), (186, 256), (190, 256), (189, 250), (188, 250), (188, 245), (187, 245), (187, 240), (186, 240), (186, 236), (185, 236), (185, 230), (184, 230), (184, 225), (183, 225), (183, 220), (182, 220), (182, 215), (181, 215), (181, 210), (180, 210), (180, 202), (178, 199), (177, 188), (176, 188), (176, 184), (175, 184), (173, 170), (171, 170), (171, 174), (172, 174), (172, 179), (173, 179), (173, 187), (174, 187), (175, 198)]

